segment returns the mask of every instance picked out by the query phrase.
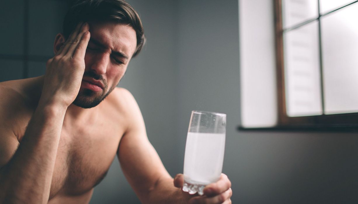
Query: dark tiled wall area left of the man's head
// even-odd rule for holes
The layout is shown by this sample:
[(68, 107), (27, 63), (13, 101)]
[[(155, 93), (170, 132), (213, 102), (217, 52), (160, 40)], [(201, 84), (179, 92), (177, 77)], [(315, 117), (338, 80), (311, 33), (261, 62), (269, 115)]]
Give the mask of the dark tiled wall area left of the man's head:
[(65, 0), (1, 1), (0, 81), (44, 74), (67, 7)]

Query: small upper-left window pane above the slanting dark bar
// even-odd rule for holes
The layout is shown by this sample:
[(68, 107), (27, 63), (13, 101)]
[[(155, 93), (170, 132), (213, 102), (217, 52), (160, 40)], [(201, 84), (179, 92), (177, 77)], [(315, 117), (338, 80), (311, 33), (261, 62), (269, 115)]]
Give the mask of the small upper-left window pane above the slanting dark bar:
[(318, 0), (282, 0), (284, 29), (318, 18)]

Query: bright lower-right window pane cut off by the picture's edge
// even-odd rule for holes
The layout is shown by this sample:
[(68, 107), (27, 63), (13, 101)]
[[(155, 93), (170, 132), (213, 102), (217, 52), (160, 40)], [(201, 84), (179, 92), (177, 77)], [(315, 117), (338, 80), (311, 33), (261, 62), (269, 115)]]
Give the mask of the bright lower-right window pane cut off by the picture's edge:
[(321, 19), (325, 113), (358, 111), (358, 4)]

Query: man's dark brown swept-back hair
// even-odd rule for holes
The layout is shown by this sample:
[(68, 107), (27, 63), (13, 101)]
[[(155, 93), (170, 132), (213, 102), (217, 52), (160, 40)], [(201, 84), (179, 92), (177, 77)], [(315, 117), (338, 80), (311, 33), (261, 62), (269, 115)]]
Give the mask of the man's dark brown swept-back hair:
[(63, 21), (63, 34), (65, 38), (68, 38), (78, 23), (89, 21), (112, 21), (130, 25), (137, 35), (137, 47), (133, 57), (140, 52), (145, 44), (144, 29), (139, 15), (124, 0), (74, 1)]

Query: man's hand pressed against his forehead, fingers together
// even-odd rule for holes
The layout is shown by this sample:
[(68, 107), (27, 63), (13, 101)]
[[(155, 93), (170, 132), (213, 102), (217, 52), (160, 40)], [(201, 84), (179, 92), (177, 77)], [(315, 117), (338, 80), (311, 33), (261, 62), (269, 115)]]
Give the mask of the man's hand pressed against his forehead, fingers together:
[(76, 99), (85, 69), (88, 30), (88, 23), (78, 24), (56, 55), (47, 61), (42, 103), (60, 103), (67, 108)]

